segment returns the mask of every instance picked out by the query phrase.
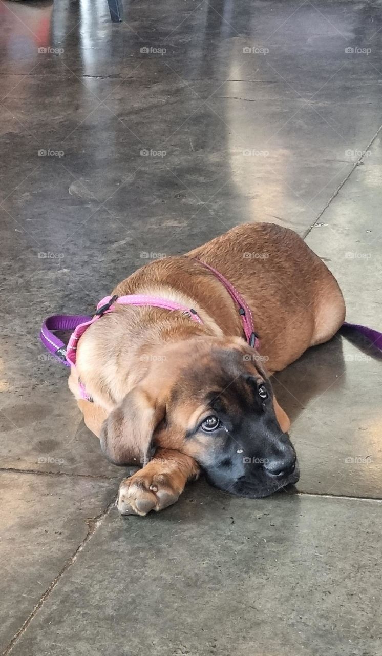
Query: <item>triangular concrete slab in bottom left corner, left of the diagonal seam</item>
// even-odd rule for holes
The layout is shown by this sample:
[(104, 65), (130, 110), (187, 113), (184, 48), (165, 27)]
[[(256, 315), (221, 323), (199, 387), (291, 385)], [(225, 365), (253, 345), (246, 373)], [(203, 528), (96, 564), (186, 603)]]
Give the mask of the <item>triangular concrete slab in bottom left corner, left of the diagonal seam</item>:
[(113, 481), (0, 472), (0, 649), (85, 543), (115, 493)]

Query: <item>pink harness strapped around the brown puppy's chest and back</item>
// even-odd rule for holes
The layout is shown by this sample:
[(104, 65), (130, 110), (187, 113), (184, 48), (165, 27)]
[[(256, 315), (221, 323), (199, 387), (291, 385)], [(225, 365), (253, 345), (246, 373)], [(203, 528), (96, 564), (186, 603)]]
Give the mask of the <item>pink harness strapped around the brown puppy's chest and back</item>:
[[(229, 281), (222, 276), (216, 269), (214, 269), (209, 264), (201, 262), (201, 260), (195, 260), (199, 262), (204, 268), (210, 270), (223, 284), (227, 292), (237, 304), (240, 318), (242, 320), (242, 327), (246, 340), (252, 348), (258, 348), (259, 340), (258, 336), (254, 332), (254, 323), (252, 319), (252, 313), (249, 306), (246, 304), (244, 298), (239, 294), (237, 289), (229, 283)], [(149, 296), (145, 294), (129, 294), (128, 296), (105, 296), (100, 300), (97, 306), (96, 313), (94, 317), (89, 316), (70, 316), (70, 315), (54, 315), (45, 319), (41, 331), (40, 338), (43, 342), (45, 348), (54, 354), (56, 358), (61, 361), (66, 366), (75, 365), (76, 355), (77, 355), (77, 345), (79, 338), (85, 333), (86, 329), (98, 321), (104, 314), (113, 312), (115, 309), (115, 304), (119, 305), (136, 305), (136, 306), (150, 306), (155, 308), (164, 308), (165, 310), (178, 310), (182, 312), (185, 316), (189, 316), (193, 321), (197, 323), (203, 323), (202, 319), (197, 314), (196, 310), (193, 308), (187, 308), (180, 303), (177, 303), (174, 300), (169, 300), (168, 298), (161, 298), (155, 296)], [(64, 342), (60, 340), (52, 331), (54, 330), (68, 330), (74, 329), (73, 333), (69, 338), (67, 346)], [(85, 387), (79, 382), (79, 391), (80, 397), (86, 401), (91, 401), (92, 399), (86, 393)]]

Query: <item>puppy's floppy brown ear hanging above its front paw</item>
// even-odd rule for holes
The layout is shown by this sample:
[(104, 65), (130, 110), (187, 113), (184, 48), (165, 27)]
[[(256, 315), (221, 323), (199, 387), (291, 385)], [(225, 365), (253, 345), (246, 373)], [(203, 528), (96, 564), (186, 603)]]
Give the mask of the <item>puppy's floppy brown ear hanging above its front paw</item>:
[(136, 386), (102, 424), (100, 442), (114, 464), (143, 464), (153, 451), (153, 432), (163, 419), (164, 405)]

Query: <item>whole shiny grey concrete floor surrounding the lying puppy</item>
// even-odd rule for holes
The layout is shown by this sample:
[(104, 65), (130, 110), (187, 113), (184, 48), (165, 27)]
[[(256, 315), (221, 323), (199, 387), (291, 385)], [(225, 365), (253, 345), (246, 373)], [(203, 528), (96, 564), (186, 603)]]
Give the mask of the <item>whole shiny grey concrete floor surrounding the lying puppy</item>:
[(201, 480), (123, 519), (123, 472), (37, 334), (142, 254), (257, 220), (304, 236), (348, 320), (380, 329), (382, 2), (123, 5), (112, 25), (106, 0), (0, 1), (0, 649), (380, 656), (377, 358), (337, 337), (277, 375), (298, 494)]

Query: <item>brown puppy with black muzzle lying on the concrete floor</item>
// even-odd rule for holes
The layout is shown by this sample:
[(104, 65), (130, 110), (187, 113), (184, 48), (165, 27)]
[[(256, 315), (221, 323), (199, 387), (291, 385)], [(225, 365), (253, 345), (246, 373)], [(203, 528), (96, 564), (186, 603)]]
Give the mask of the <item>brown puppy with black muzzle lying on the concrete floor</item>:
[[(195, 258), (244, 297), (259, 352), (244, 340), (227, 289)], [(343, 323), (341, 291), (320, 258), (292, 230), (246, 224), (186, 256), (146, 264), (113, 290), (132, 293), (195, 308), (202, 324), (178, 311), (115, 304), (79, 340), (69, 388), (86, 426), (112, 462), (144, 465), (121, 483), (120, 512), (174, 503), (199, 466), (240, 496), (297, 482), (290, 421), (269, 376)], [(93, 403), (79, 398), (79, 379)]]

